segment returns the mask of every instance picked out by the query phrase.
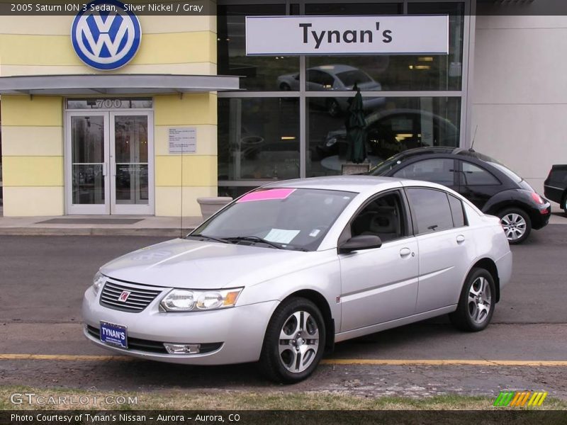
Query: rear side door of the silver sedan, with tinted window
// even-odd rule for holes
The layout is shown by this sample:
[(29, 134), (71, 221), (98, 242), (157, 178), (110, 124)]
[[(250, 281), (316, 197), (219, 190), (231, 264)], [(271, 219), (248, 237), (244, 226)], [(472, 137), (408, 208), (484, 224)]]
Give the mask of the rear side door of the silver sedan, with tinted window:
[(420, 253), (416, 312), (454, 305), (475, 251), (461, 200), (434, 188), (405, 193)]

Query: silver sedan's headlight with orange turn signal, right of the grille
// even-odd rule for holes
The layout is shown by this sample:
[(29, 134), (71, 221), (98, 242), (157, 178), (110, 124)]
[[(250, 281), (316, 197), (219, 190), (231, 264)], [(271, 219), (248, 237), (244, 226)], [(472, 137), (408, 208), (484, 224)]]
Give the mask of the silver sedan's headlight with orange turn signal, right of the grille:
[(242, 288), (223, 290), (174, 289), (159, 303), (166, 312), (191, 312), (234, 307)]

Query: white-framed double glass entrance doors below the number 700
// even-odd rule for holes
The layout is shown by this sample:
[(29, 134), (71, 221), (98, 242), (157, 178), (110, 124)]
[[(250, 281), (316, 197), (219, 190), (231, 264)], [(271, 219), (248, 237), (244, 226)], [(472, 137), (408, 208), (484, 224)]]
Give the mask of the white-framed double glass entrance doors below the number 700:
[(152, 113), (68, 112), (66, 118), (67, 212), (152, 215)]

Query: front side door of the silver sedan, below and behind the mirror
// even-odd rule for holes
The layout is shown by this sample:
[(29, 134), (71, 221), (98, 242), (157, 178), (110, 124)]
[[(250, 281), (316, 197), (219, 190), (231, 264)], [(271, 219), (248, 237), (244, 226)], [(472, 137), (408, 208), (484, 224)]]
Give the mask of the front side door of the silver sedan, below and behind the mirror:
[(371, 198), (344, 229), (341, 240), (376, 234), (379, 248), (339, 254), (342, 293), (340, 331), (410, 316), (417, 299), (417, 242), (405, 198), (390, 191)]

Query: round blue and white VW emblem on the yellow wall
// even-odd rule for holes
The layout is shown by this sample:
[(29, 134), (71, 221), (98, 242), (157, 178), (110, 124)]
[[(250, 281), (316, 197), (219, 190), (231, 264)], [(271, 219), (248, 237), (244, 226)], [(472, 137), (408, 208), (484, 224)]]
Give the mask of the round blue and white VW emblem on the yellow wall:
[(105, 71), (130, 62), (142, 40), (137, 16), (118, 0), (94, 0), (85, 9), (77, 13), (71, 30), (79, 59)]

